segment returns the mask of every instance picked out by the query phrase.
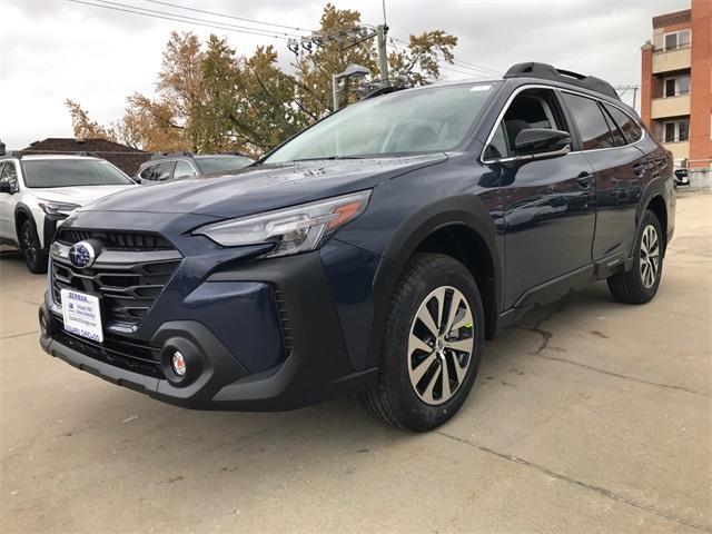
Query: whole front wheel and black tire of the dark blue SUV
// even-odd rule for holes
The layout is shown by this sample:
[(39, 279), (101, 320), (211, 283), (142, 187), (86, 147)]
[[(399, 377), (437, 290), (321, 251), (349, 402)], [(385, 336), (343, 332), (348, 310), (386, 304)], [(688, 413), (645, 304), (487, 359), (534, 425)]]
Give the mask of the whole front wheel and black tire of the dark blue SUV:
[[(454, 300), (459, 304), (453, 315)], [(429, 327), (421, 319), (428, 315)], [(414, 255), (390, 299), (378, 379), (363, 395), (364, 405), (398, 428), (426, 432), (442, 425), (472, 389), (483, 340), (482, 299), (465, 266), (449, 256)]]

